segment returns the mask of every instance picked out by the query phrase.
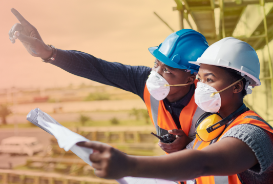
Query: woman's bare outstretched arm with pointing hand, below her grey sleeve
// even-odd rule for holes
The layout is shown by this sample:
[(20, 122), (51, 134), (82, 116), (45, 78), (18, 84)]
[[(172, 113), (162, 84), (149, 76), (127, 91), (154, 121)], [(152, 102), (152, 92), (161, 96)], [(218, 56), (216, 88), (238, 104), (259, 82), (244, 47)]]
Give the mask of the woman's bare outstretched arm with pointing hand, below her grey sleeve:
[(90, 155), (95, 174), (109, 179), (134, 176), (181, 181), (200, 176), (232, 175), (258, 163), (254, 152), (233, 137), (226, 137), (203, 150), (182, 150), (158, 157), (128, 156), (110, 146), (93, 142), (78, 145), (98, 150)]

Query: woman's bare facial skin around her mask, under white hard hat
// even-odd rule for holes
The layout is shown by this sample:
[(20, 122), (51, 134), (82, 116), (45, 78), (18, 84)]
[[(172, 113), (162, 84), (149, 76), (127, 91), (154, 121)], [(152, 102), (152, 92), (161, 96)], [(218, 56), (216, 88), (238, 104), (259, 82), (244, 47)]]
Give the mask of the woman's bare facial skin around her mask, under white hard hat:
[[(205, 83), (215, 88), (217, 91), (220, 91), (233, 83), (233, 81), (230, 81), (230, 77), (225, 70), (213, 65), (202, 64), (197, 76), (199, 82)], [(232, 86), (219, 93), (221, 96), (221, 108), (232, 103), (230, 100), (233, 99), (234, 88), (235, 86)]]

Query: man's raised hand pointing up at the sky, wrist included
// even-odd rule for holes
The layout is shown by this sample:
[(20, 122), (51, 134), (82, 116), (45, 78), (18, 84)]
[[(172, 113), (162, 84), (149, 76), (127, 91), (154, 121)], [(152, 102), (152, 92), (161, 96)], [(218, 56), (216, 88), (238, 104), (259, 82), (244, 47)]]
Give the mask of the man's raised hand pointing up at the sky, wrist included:
[(41, 39), (37, 29), (32, 26), (17, 10), (11, 9), (11, 12), (16, 16), (20, 23), (14, 24), (10, 31), (9, 37), (12, 44), (15, 39), (19, 39), (27, 51), (35, 57), (49, 58), (53, 51), (52, 48), (46, 45)]

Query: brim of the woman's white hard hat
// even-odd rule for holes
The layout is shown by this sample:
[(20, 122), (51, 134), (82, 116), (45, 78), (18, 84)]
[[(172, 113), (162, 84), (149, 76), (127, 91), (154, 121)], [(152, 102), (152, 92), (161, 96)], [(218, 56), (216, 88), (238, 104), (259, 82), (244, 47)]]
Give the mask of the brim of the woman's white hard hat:
[(261, 81), (260, 81), (259, 78), (256, 78), (254, 75), (251, 75), (250, 73), (248, 73), (246, 71), (243, 71), (243, 70), (240, 70), (240, 69), (235, 68), (235, 67), (229, 67), (229, 66), (225, 66), (225, 65), (217, 65), (215, 63), (210, 62), (209, 60), (200, 59), (200, 57), (197, 59), (196, 62), (188, 62), (188, 63), (194, 64), (194, 65), (198, 65), (198, 66), (200, 66), (201, 64), (205, 64), (205, 65), (214, 65), (214, 66), (226, 67), (226, 68), (234, 69), (234, 70), (236, 70), (238, 72), (244, 73), (245, 75), (247, 75), (248, 77), (250, 77), (251, 79), (253, 79), (256, 82), (255, 85), (249, 85), (249, 86), (260, 86), (261, 85)]

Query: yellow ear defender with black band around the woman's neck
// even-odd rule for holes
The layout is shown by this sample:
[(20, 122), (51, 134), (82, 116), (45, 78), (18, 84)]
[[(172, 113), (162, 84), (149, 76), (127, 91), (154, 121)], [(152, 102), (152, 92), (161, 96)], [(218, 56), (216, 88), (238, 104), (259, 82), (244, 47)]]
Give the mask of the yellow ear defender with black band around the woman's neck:
[(225, 129), (225, 126), (230, 120), (235, 119), (245, 111), (249, 109), (243, 104), (239, 109), (234, 111), (229, 116), (224, 119), (220, 116), (219, 113), (210, 113), (205, 112), (199, 117), (195, 124), (196, 137), (200, 141), (209, 142), (219, 135)]

